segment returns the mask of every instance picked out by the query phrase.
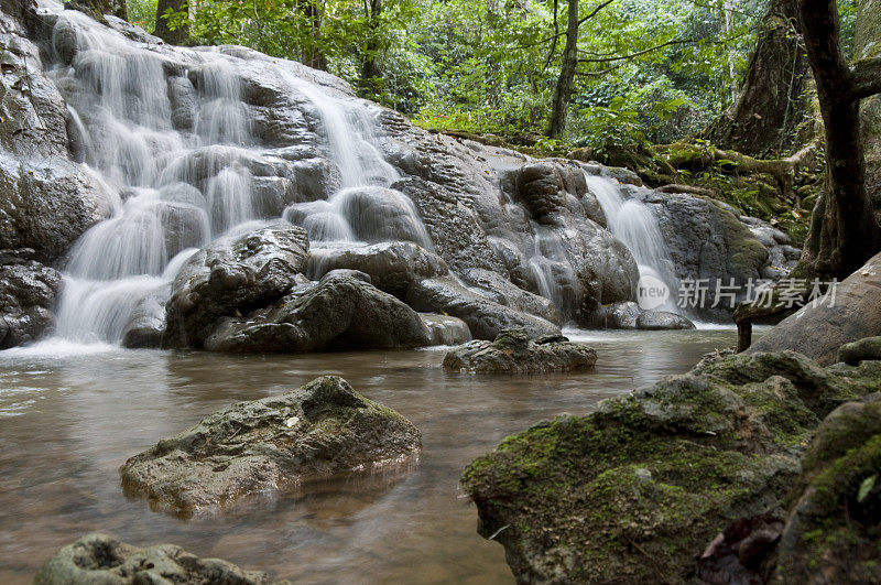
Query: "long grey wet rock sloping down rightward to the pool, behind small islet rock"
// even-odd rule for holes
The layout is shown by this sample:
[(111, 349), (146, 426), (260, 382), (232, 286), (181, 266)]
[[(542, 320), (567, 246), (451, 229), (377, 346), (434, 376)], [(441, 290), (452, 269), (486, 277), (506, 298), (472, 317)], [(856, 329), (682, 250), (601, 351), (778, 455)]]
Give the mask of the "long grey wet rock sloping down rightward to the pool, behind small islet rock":
[(416, 282), (407, 293), (407, 304), (416, 311), (463, 319), (477, 339), (494, 339), (503, 329), (511, 328), (523, 328), (532, 337), (559, 333), (559, 327), (553, 323), (496, 303), (450, 278)]

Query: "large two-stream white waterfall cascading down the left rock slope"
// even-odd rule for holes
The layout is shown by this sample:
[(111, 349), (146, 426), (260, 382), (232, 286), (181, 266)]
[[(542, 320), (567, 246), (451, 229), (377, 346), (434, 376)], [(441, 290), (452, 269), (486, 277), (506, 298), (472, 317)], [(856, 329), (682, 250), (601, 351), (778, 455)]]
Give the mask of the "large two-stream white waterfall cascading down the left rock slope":
[[(193, 61), (189, 69), (170, 67), (163, 51), (79, 12), (48, 10), (58, 13), (53, 51), (62, 64), (50, 75), (67, 100), (72, 152), (105, 192), (109, 216), (69, 253), (57, 335), (78, 344), (119, 343), (142, 302), (167, 297), (194, 248), (264, 225), (257, 221), (268, 218), (258, 217), (251, 189), (251, 169), (263, 151), (236, 57), (182, 50)], [(76, 53), (64, 64), (70, 28)], [(315, 107), (319, 138), (341, 180), (328, 201), (294, 205), (284, 217), (317, 242), (409, 239), (431, 249), (413, 203), (388, 188), (399, 174), (376, 147), (369, 109), (296, 77), (283, 63), (275, 73)], [(184, 100), (188, 113), (180, 104), (174, 110), (168, 96), (175, 91), (193, 96)]]

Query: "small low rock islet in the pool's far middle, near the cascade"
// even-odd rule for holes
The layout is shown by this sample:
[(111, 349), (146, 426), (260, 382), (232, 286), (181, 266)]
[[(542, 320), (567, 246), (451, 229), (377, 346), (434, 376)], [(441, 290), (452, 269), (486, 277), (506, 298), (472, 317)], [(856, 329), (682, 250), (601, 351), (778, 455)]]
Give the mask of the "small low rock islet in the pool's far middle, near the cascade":
[(597, 353), (562, 335), (530, 339), (523, 329), (505, 329), (493, 342), (476, 340), (450, 349), (444, 368), (480, 373), (527, 373), (590, 369)]

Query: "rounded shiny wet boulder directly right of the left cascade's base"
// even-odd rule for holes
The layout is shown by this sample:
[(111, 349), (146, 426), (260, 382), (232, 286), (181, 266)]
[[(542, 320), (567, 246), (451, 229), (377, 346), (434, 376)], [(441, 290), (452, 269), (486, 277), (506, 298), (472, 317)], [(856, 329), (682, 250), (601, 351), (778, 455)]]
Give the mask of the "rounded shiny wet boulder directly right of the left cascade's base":
[(284, 296), (306, 268), (303, 228), (276, 221), (196, 252), (174, 279), (166, 305), (165, 343), (203, 347), (224, 317), (235, 317)]

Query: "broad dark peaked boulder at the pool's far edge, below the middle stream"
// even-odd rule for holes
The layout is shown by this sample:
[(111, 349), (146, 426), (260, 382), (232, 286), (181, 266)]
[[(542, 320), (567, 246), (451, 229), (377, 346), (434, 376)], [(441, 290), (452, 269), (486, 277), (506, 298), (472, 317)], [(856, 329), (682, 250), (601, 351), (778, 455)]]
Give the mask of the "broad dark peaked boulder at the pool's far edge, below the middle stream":
[(431, 342), (418, 313), (371, 285), (368, 274), (335, 270), (267, 308), (225, 321), (205, 348), (273, 354), (422, 347)]

